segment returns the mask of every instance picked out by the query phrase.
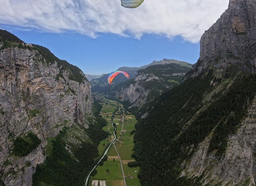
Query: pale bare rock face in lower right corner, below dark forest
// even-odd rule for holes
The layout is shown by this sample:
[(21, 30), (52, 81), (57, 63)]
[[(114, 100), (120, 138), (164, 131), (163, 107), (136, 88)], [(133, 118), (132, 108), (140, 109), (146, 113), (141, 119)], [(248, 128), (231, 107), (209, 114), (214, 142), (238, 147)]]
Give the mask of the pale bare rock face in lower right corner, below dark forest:
[(247, 117), (242, 121), (235, 135), (229, 136), (224, 157), (207, 154), (211, 135), (199, 144), (186, 165), (182, 175), (200, 176), (202, 183), (216, 185), (236, 185), (247, 182), (255, 185), (256, 176), (256, 98), (248, 109)]

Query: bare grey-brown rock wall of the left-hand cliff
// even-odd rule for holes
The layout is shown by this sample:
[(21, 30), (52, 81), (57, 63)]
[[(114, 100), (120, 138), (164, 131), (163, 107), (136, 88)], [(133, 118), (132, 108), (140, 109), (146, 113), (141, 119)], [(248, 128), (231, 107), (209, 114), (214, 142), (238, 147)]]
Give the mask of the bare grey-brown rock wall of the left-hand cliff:
[[(81, 84), (70, 80), (69, 70), (62, 73), (65, 80), (57, 78), (60, 68), (36, 50), (0, 50), (0, 176), (5, 185), (32, 184), (36, 166), (45, 159), (47, 137), (71, 123), (88, 127), (84, 115), (92, 113), (91, 84), (86, 78)], [(27, 132), (35, 133), (41, 145), (22, 158), (10, 154), (14, 140)]]

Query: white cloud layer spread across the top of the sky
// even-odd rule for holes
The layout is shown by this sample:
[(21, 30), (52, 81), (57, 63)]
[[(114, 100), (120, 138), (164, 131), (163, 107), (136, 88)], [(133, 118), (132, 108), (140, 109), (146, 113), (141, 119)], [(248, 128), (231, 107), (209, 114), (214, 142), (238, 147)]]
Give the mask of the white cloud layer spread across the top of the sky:
[(140, 38), (156, 34), (198, 42), (228, 8), (228, 0), (145, 0), (126, 9), (120, 0), (0, 0), (0, 23), (47, 32), (75, 31)]

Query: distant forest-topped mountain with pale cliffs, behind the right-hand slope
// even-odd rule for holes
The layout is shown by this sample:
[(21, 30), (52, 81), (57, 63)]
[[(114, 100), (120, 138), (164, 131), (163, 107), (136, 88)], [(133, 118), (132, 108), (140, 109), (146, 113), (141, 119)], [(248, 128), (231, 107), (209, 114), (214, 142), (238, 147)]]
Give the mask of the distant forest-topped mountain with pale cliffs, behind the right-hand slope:
[(184, 75), (190, 69), (191, 66), (176, 63), (148, 66), (138, 70), (134, 79), (111, 86), (105, 95), (112, 99), (122, 95), (126, 106), (140, 107), (182, 83)]

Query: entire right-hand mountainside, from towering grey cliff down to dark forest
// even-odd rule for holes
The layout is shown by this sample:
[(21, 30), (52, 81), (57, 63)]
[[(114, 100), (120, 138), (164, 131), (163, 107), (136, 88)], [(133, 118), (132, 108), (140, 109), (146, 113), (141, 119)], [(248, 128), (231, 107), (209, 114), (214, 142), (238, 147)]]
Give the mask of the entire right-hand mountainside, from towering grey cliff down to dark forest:
[(254, 0), (230, 0), (184, 83), (141, 108), (143, 186), (255, 185), (255, 13)]

